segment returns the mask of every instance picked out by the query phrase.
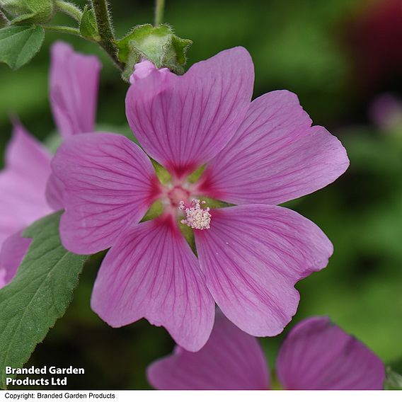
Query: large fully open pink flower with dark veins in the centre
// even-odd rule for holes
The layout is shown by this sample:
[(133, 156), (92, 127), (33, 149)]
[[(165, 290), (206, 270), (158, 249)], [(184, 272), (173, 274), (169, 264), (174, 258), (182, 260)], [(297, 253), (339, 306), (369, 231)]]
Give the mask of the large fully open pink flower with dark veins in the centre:
[[(294, 284), (327, 265), (333, 247), (323, 232), (276, 204), (338, 178), (348, 167), (345, 149), (311, 127), (293, 93), (251, 102), (252, 91), (253, 62), (242, 47), (183, 76), (145, 61), (126, 98), (142, 148), (101, 133), (57, 151), (64, 246), (81, 254), (111, 247), (91, 299), (110, 326), (145, 317), (195, 351), (209, 338), (216, 302), (243, 331), (276, 335), (297, 309)], [(168, 185), (146, 153), (171, 174)], [(237, 206), (213, 209), (202, 196)], [(156, 200), (162, 214), (139, 223)], [(193, 230), (197, 256), (183, 227)]]

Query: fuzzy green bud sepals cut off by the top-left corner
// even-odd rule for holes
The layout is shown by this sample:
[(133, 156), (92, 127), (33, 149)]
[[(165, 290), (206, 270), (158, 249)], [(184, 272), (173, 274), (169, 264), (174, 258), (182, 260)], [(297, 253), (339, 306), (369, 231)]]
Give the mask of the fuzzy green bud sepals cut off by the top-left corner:
[(13, 17), (11, 23), (46, 23), (56, 12), (54, 0), (0, 0), (0, 7)]

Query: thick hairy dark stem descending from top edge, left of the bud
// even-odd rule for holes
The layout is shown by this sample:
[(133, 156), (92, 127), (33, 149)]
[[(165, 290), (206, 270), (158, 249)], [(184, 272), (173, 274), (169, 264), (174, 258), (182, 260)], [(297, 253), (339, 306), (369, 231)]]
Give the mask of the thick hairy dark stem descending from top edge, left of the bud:
[(103, 47), (120, 71), (124, 70), (124, 64), (117, 58), (117, 46), (115, 45), (115, 36), (113, 35), (112, 23), (108, 11), (108, 2), (106, 0), (91, 0), (93, 12), (95, 13), (98, 33), (101, 37), (99, 45)]

